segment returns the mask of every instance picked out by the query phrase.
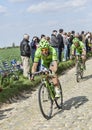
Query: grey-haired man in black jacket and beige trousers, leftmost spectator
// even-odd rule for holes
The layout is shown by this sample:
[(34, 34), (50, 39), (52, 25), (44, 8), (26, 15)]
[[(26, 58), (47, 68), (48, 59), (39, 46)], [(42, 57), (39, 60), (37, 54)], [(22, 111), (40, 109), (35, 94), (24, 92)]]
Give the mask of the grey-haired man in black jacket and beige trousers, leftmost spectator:
[(29, 45), (29, 35), (24, 34), (24, 38), (20, 43), (20, 55), (23, 64), (23, 76), (28, 77), (30, 73), (30, 45)]

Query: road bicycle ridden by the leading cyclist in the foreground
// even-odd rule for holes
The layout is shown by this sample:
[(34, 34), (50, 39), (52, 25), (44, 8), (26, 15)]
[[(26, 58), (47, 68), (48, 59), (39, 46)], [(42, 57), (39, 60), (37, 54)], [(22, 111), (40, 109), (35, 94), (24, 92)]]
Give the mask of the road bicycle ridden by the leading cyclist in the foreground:
[(49, 70), (35, 72), (34, 75), (41, 76), (41, 84), (38, 90), (38, 102), (39, 108), (44, 118), (50, 119), (52, 117), (54, 102), (58, 109), (62, 109), (63, 106), (63, 93), (62, 87), (59, 81), (60, 97), (55, 98), (55, 86), (51, 79), (53, 74)]

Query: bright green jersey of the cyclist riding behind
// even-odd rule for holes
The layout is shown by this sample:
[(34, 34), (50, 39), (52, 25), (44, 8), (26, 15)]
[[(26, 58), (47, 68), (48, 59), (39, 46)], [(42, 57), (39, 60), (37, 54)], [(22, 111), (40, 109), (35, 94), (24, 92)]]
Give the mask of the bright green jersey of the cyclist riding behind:
[(81, 41), (79, 41), (78, 47), (76, 47), (74, 44), (72, 44), (72, 46), (71, 46), (71, 50), (72, 51), (76, 50), (76, 53), (78, 53), (78, 54), (82, 54), (83, 49), (85, 49), (85, 45)]

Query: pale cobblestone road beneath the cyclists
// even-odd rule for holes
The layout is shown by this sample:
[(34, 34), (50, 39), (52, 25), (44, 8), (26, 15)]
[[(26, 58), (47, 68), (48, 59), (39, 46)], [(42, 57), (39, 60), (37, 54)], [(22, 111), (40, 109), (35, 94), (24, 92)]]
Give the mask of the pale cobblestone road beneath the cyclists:
[(92, 130), (92, 59), (86, 66), (79, 83), (75, 80), (75, 68), (60, 77), (64, 110), (54, 109), (53, 117), (44, 119), (36, 89), (29, 98), (0, 109), (0, 130)]

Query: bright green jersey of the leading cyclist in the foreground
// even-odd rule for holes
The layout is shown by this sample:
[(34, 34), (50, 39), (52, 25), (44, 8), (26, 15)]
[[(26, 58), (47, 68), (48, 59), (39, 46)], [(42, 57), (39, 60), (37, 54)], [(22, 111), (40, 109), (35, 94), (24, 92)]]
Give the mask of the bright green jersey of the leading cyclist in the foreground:
[(39, 62), (41, 60), (41, 64), (49, 68), (50, 64), (53, 61), (57, 61), (57, 53), (53, 47), (49, 47), (48, 56), (42, 55), (41, 48), (37, 48), (35, 52), (34, 62)]

